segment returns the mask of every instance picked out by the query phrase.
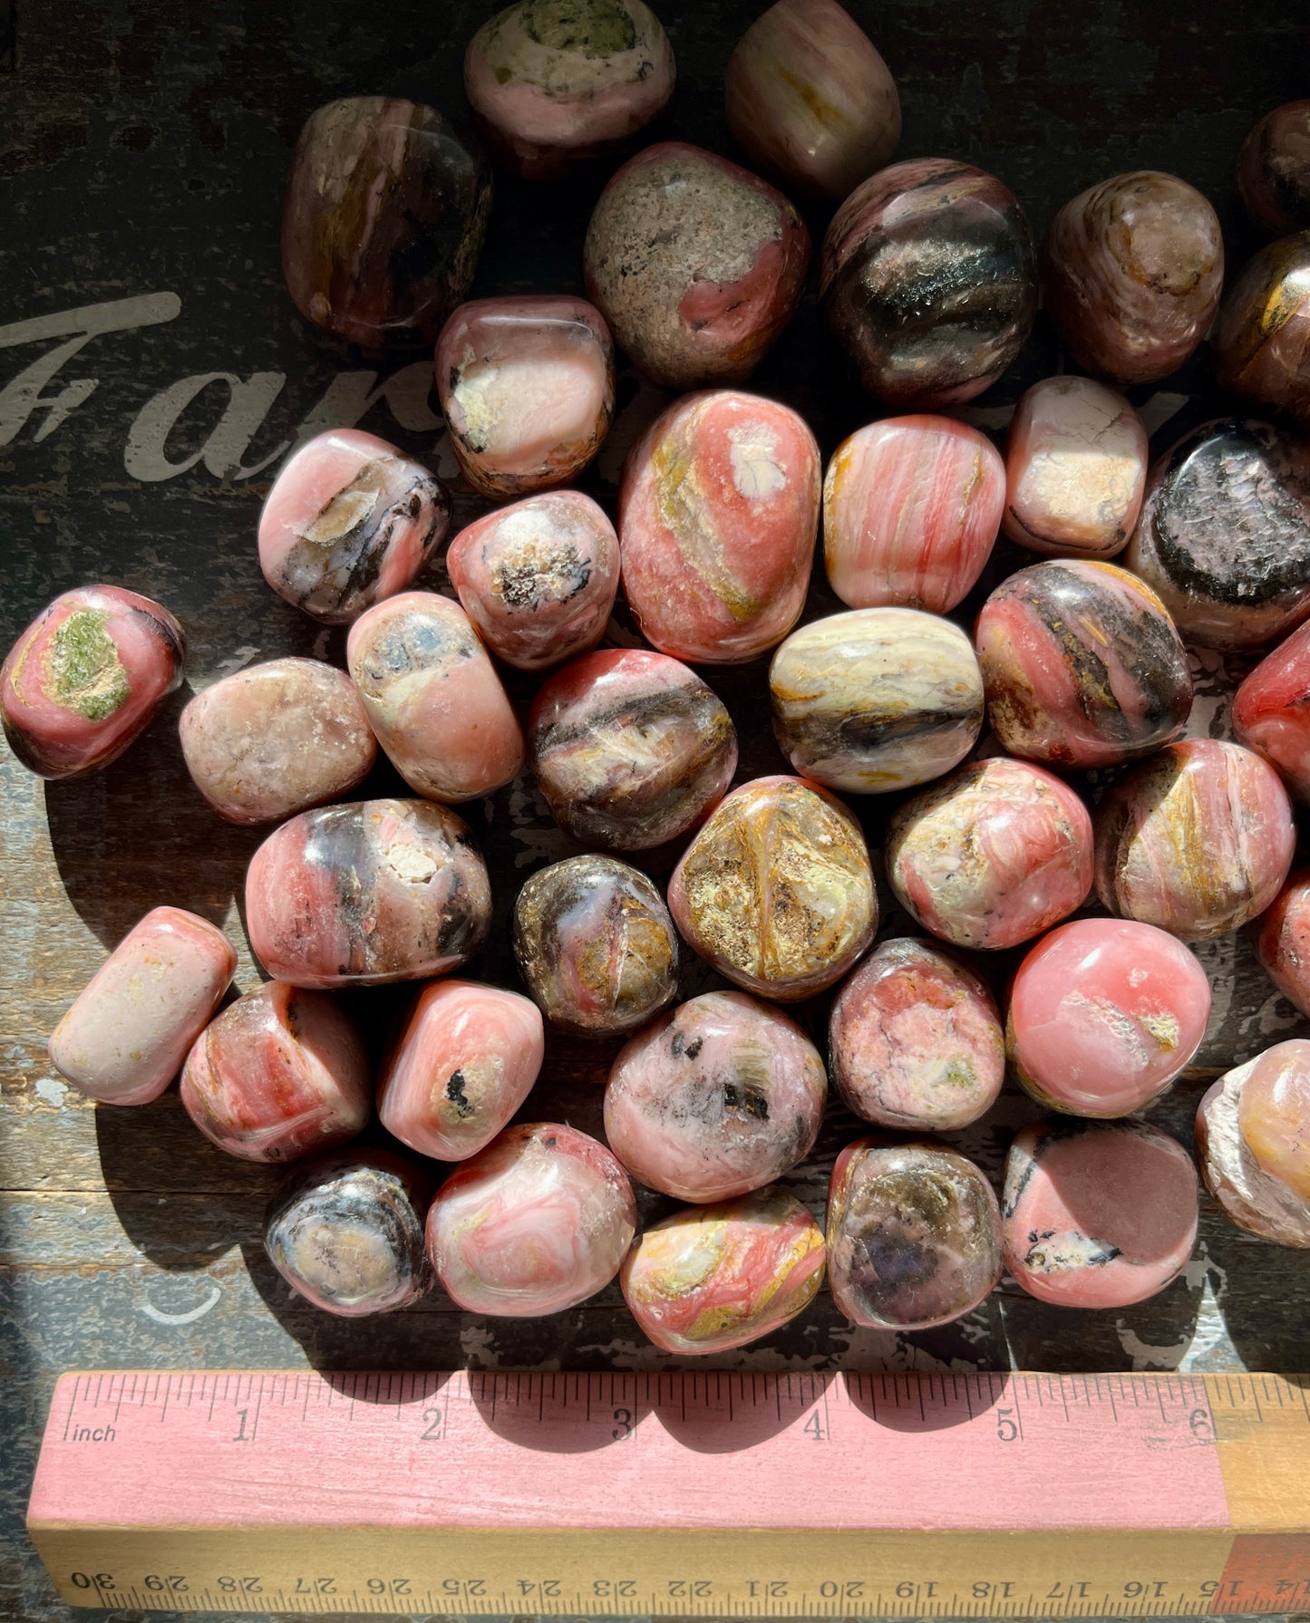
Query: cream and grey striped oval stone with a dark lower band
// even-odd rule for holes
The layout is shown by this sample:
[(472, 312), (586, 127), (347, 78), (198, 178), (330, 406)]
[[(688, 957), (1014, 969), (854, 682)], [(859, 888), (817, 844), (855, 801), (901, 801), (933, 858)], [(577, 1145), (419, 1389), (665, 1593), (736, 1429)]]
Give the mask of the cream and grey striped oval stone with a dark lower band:
[(982, 730), (967, 636), (917, 609), (855, 609), (792, 631), (769, 664), (769, 701), (795, 771), (854, 794), (940, 777)]

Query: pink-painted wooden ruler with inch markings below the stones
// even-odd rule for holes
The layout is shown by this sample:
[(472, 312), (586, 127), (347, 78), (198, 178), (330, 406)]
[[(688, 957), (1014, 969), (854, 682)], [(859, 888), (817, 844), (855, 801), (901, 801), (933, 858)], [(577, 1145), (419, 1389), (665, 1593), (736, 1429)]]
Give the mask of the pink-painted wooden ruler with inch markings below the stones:
[(1310, 1608), (1310, 1378), (93, 1373), (28, 1526), (75, 1605)]

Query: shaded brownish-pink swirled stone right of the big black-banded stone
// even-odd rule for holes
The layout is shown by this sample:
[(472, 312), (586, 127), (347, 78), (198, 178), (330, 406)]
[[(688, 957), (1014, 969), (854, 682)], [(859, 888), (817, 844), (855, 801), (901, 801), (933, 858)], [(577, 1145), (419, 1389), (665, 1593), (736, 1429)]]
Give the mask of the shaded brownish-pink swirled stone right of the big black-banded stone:
[(1065, 347), (1122, 383), (1175, 372), (1206, 336), (1222, 286), (1214, 209), (1157, 169), (1079, 192), (1042, 245), (1042, 299)]

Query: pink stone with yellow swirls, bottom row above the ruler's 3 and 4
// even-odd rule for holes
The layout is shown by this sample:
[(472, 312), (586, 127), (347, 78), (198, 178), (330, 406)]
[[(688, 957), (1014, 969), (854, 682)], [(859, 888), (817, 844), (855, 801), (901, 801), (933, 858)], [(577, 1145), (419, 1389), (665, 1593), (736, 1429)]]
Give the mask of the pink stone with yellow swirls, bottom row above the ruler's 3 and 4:
[(823, 1230), (799, 1199), (755, 1190), (653, 1224), (623, 1259), (628, 1311), (664, 1352), (727, 1352), (804, 1313), (823, 1282)]

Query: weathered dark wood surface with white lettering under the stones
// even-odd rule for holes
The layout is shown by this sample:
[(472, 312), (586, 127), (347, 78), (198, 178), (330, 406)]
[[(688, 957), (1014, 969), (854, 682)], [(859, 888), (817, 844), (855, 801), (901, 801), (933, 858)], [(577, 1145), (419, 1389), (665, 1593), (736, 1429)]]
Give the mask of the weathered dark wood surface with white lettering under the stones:
[[(8, 323), (0, 326), (0, 644), (50, 596), (99, 578), (159, 597), (182, 618), (192, 690), (284, 652), (341, 662), (344, 638), (297, 617), (258, 573), (255, 521), (281, 456), (317, 428), (360, 420), (446, 477), (455, 464), (429, 403), (425, 357), (372, 360), (326, 344), (295, 316), (278, 271), (282, 172), (304, 117), (333, 96), (385, 91), (463, 109), (463, 45), (492, 10), (490, 0), (391, 0), (385, 8), (45, 0), (21, 8), (16, 67), (0, 76), (8, 141), (0, 151), (8, 222), (0, 234), (0, 323)], [(656, 133), (732, 154), (719, 86), (755, 0), (664, 0), (659, 10), (680, 83)], [(993, 169), (1039, 232), (1067, 196), (1105, 174), (1170, 169), (1214, 200), (1234, 261), (1253, 247), (1232, 161), (1261, 112), (1310, 88), (1297, 6), (852, 0), (852, 10), (901, 84), (903, 156), (942, 153)], [(476, 291), (581, 291), (581, 235), (597, 187), (599, 179), (534, 190), (498, 177)], [(823, 217), (810, 224), (818, 237)], [(88, 307), (96, 310), (68, 316)], [(88, 323), (101, 334), (70, 352), (57, 375), (37, 383), (24, 373)], [(1021, 390), (1058, 365), (1039, 323), (972, 420), (1002, 428)], [(813, 276), (755, 386), (797, 406), (825, 454), (875, 415), (821, 329)], [(1135, 393), (1157, 450), (1214, 414), (1208, 390), (1201, 355), (1177, 380)], [(588, 477), (610, 508), (622, 453), (661, 401), (625, 375), (622, 419)], [(476, 510), (468, 493), (459, 497), (461, 519)], [(980, 591), (1019, 562), (1002, 549)], [(440, 566), (432, 584), (443, 584)], [(807, 615), (833, 607), (820, 581)], [(1222, 735), (1234, 674), (1213, 656), (1198, 659), (1195, 730)], [(711, 680), (742, 734), (740, 776), (781, 769), (761, 703), (763, 664)], [(515, 696), (526, 701), (529, 687), (516, 682)], [(205, 1143), (175, 1094), (144, 1110), (97, 1109), (55, 1078), (47, 1032), (106, 949), (157, 902), (221, 923), (242, 949), (239, 987), (256, 980), (240, 891), (260, 833), (218, 821), (190, 786), (175, 742), (185, 698), (125, 760), (84, 782), (42, 786), (6, 751), (0, 756), (3, 1617), (68, 1615), (21, 1530), (60, 1370), (661, 1362), (615, 1289), (539, 1323), (479, 1319), (440, 1295), (365, 1324), (315, 1313), (292, 1298), (260, 1248), (269, 1175)], [(396, 786), (380, 771), (370, 790)], [(885, 808), (867, 802), (862, 812), (877, 844)], [(571, 847), (528, 777), (472, 807), (471, 820), (489, 852), (498, 920), (477, 971), (515, 984), (505, 928), (515, 889)], [(649, 867), (662, 875), (670, 862), (657, 854)], [(883, 933), (896, 927), (888, 906)], [(1195, 1073), (1153, 1112), (1185, 1141), (1206, 1076), (1304, 1029), (1243, 938), (1213, 943), (1201, 958), (1214, 987), (1211, 1029)], [(990, 966), (997, 985), (1011, 964), (1013, 954)], [(687, 995), (711, 984), (688, 966)], [(357, 1001), (380, 1040), (396, 998)], [(820, 1035), (825, 1001), (800, 1014)], [(554, 1040), (528, 1113), (599, 1130), (597, 1083), (612, 1052)], [(1028, 1115), (1028, 1102), (1006, 1094), (984, 1123), (954, 1138), (997, 1173)], [(815, 1211), (833, 1154), (855, 1130), (833, 1110), (820, 1151), (791, 1180)], [(659, 1209), (654, 1199), (644, 1206)], [(1308, 1256), (1247, 1238), (1208, 1209), (1193, 1264), (1138, 1308), (1068, 1313), (1003, 1287), (966, 1319), (907, 1337), (852, 1329), (823, 1297), (763, 1347), (717, 1362), (756, 1370), (1297, 1370), (1305, 1367), (1307, 1285)]]

